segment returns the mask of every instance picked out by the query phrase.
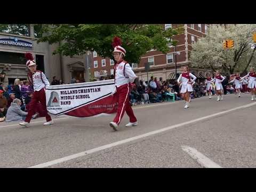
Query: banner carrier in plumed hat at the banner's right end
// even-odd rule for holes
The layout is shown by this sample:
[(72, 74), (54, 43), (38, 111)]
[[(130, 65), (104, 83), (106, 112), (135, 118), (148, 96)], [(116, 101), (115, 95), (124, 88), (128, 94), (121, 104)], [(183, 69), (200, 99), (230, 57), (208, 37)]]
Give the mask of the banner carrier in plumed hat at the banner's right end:
[(137, 76), (134, 74), (129, 63), (124, 61), (126, 51), (121, 46), (121, 39), (119, 37), (114, 37), (112, 45), (114, 47), (113, 56), (116, 64), (114, 66), (115, 88), (111, 95), (118, 97), (118, 107), (116, 117), (114, 118), (113, 122), (109, 123), (109, 125), (115, 131), (117, 131), (118, 125), (121, 122), (125, 111), (130, 118), (130, 122), (125, 126), (130, 127), (138, 125), (137, 118), (134, 116), (133, 110), (129, 103), (131, 83), (134, 82)]

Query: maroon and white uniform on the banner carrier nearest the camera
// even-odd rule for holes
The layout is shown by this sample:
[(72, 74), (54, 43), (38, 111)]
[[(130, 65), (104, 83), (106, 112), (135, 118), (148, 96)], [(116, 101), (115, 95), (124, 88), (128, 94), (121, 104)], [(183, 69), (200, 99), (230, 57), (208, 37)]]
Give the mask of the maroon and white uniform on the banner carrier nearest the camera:
[(118, 97), (118, 108), (117, 114), (114, 118), (115, 123), (119, 124), (124, 112), (126, 111), (127, 115), (130, 118), (130, 122), (137, 122), (137, 118), (133, 114), (133, 110), (130, 106), (130, 92), (131, 92), (131, 83), (136, 78), (131, 66), (129, 63), (121, 60), (115, 65), (115, 96)]

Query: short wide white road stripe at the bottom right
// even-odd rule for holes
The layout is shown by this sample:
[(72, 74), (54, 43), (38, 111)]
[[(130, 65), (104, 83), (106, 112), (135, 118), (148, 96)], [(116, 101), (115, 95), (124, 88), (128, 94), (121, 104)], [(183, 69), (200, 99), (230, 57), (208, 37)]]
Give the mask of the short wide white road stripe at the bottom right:
[(211, 159), (197, 151), (195, 148), (189, 146), (181, 146), (181, 148), (183, 151), (187, 152), (189, 156), (191, 156), (205, 168), (222, 168), (220, 165), (211, 161)]

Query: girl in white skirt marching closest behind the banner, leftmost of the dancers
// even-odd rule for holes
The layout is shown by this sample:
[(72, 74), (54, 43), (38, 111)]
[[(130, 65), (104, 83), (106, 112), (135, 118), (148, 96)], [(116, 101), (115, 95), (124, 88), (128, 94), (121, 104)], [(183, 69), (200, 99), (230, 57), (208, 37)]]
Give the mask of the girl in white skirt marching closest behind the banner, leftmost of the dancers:
[[(193, 92), (192, 84), (195, 82), (196, 76), (189, 73), (188, 66), (182, 67), (182, 70), (183, 70), (183, 73), (180, 74), (177, 82), (179, 84), (182, 83), (180, 93), (182, 94), (182, 98), (186, 101), (186, 105), (184, 108), (188, 108), (189, 100), (190, 100), (190, 92)], [(193, 79), (191, 79), (191, 77)]]

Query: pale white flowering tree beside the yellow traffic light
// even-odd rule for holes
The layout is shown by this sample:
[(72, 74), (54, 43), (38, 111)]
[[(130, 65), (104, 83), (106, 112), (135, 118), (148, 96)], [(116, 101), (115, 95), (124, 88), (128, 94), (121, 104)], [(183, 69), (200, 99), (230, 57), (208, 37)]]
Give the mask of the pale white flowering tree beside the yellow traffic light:
[[(256, 46), (252, 40), (255, 24), (229, 25), (224, 27), (211, 26), (206, 37), (192, 45), (190, 60), (193, 67), (215, 70), (222, 68), (226, 73), (236, 71), (245, 73), (255, 61)], [(222, 42), (226, 39), (234, 41), (234, 47), (223, 49)]]

